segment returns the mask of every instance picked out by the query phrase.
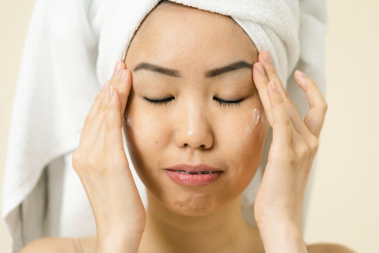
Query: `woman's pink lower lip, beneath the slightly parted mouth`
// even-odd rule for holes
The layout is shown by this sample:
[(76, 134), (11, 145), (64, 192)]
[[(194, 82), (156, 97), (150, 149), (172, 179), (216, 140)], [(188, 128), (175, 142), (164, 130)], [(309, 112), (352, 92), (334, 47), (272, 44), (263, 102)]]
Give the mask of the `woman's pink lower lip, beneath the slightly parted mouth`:
[(185, 174), (165, 170), (167, 175), (174, 182), (184, 186), (205, 186), (214, 183), (221, 176), (222, 172), (212, 172), (207, 174)]

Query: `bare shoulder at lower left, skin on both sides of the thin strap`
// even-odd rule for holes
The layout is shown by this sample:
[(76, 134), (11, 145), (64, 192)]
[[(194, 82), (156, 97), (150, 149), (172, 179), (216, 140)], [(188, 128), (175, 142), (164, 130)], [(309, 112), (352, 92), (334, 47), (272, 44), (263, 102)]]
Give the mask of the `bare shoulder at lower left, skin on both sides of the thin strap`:
[[(83, 252), (94, 252), (96, 247), (95, 237), (79, 238)], [(70, 238), (66, 237), (43, 237), (30, 242), (20, 253), (75, 253)]]

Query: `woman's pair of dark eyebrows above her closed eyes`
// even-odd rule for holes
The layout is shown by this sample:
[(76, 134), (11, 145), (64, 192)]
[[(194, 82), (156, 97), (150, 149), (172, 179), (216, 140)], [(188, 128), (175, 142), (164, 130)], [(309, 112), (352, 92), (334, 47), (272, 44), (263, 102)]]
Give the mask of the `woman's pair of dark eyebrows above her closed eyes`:
[[(220, 68), (214, 68), (214, 69), (208, 70), (204, 73), (204, 76), (207, 78), (212, 78), (212, 77), (215, 77), (215, 76), (218, 76), (218, 75), (221, 75), (221, 74), (233, 71), (233, 70), (243, 69), (243, 68), (250, 68), (251, 69), (252, 67), (253, 67), (253, 65), (246, 62), (246, 61), (237, 61), (237, 62), (228, 64), (228, 65), (220, 67)], [(158, 65), (155, 65), (152, 63), (148, 63), (148, 62), (139, 63), (133, 69), (133, 71), (135, 72), (135, 71), (140, 70), (140, 69), (145, 69), (145, 70), (149, 70), (152, 72), (158, 72), (158, 73), (168, 75), (168, 76), (173, 76), (173, 77), (181, 77), (180, 72), (176, 69), (165, 68), (165, 67), (158, 66)]]

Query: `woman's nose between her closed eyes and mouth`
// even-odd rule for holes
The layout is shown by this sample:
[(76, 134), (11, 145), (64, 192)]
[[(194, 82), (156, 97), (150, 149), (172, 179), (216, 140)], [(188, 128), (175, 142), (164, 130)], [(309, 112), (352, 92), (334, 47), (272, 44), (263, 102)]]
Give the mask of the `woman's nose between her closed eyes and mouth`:
[(190, 104), (180, 110), (177, 118), (175, 143), (178, 147), (209, 149), (213, 146), (210, 115), (199, 104)]

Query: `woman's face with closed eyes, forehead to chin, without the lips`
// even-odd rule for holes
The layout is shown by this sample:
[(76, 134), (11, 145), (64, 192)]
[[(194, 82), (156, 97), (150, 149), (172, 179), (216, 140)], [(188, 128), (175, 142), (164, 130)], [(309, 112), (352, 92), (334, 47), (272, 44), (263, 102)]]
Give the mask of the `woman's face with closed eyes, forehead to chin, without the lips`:
[[(240, 61), (246, 63), (211, 71)], [(231, 18), (178, 4), (158, 6), (133, 37), (123, 128), (139, 177), (173, 212), (211, 214), (239, 196), (256, 173), (268, 129), (252, 78), (256, 61), (254, 44)], [(180, 163), (223, 172), (212, 184), (183, 186), (165, 171)]]

